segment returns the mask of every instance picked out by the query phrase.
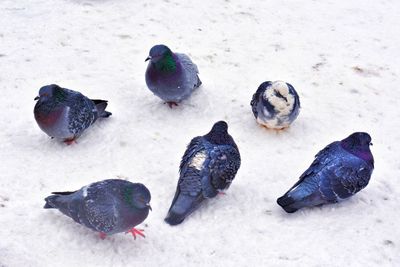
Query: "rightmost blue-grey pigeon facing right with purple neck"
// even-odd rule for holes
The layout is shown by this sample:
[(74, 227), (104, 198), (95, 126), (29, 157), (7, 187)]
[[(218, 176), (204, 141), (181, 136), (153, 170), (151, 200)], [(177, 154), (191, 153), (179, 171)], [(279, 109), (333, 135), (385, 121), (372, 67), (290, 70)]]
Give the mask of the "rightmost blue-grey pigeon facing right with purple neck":
[(368, 185), (374, 170), (370, 145), (371, 137), (364, 132), (329, 144), (315, 156), (300, 180), (278, 198), (278, 204), (293, 213), (303, 207), (335, 203), (356, 194)]

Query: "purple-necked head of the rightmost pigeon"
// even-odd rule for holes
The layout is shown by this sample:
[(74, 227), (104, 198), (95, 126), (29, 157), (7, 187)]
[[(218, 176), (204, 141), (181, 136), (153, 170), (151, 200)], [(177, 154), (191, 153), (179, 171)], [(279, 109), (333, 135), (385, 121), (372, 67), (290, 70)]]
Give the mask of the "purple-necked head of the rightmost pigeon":
[(340, 141), (341, 146), (349, 153), (362, 158), (374, 165), (374, 158), (369, 147), (372, 145), (371, 136), (364, 132), (356, 132)]

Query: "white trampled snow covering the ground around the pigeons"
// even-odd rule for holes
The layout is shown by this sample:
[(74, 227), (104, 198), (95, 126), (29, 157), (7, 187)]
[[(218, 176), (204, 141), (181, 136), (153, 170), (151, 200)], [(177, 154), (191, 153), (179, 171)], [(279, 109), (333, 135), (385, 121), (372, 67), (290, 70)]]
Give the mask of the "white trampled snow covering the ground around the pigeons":
[[(0, 266), (400, 266), (399, 10), (398, 0), (0, 1)], [(144, 81), (160, 43), (187, 53), (203, 81), (173, 110)], [(300, 95), (288, 130), (253, 117), (266, 80)], [(51, 140), (33, 117), (50, 83), (108, 99), (113, 116), (78, 144)], [(240, 148), (238, 175), (170, 227), (185, 147), (221, 119)], [(374, 143), (367, 188), (286, 214), (276, 198), (354, 131)], [(145, 239), (101, 240), (42, 208), (52, 191), (116, 177), (152, 193)]]

